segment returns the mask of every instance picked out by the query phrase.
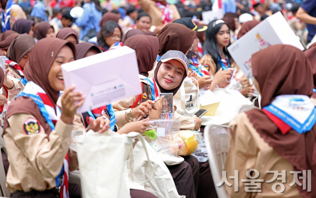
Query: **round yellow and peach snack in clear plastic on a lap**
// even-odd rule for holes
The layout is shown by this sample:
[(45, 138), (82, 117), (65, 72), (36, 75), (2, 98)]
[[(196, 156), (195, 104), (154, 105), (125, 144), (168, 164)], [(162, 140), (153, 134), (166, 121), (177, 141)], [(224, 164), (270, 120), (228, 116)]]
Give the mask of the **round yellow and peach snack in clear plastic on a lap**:
[(179, 132), (178, 155), (186, 156), (197, 149), (197, 134), (194, 131), (184, 130)]

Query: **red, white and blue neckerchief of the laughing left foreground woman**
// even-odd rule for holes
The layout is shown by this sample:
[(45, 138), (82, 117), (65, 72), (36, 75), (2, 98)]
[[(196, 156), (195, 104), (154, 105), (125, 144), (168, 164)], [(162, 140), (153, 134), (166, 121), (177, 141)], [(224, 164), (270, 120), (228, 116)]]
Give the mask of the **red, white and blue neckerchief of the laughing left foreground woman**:
[[(29, 97), (33, 99), (33, 101), (39, 106), (41, 115), (45, 118), (46, 122), (50, 126), (51, 130), (55, 130), (55, 124), (60, 117), (60, 109), (58, 105), (56, 105), (56, 109), (54, 108), (53, 102), (49, 99), (48, 95), (45, 91), (40, 88), (37, 84), (30, 81), (26, 84), (23, 91), (21, 91), (17, 97)], [(56, 114), (56, 113), (57, 114)], [(60, 197), (61, 198), (69, 198), (68, 193), (68, 171), (69, 171), (69, 157), (68, 153), (64, 159), (63, 167), (59, 173), (59, 175), (55, 178), (56, 186), (60, 188)], [(61, 183), (62, 181), (62, 183)]]

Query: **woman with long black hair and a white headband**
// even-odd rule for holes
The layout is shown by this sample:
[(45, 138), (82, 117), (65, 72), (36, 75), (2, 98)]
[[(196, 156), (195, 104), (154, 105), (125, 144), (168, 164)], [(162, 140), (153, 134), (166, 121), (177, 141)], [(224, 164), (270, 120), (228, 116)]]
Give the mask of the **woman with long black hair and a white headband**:
[(204, 55), (199, 63), (204, 65), (210, 75), (213, 75), (213, 82), (210, 90), (216, 86), (226, 87), (227, 81), (231, 79), (231, 70), (237, 68), (227, 47), (230, 45), (230, 29), (223, 20), (213, 20), (207, 25), (205, 32)]

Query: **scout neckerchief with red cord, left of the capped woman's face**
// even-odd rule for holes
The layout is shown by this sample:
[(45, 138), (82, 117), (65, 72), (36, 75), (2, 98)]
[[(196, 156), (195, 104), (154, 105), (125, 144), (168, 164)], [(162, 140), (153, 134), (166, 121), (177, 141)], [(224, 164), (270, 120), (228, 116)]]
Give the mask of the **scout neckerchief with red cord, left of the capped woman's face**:
[(138, 95), (135, 102), (130, 106), (130, 108), (134, 108), (135, 106), (137, 106), (138, 103), (142, 103), (145, 102), (147, 100), (155, 100), (156, 99), (156, 94), (155, 94), (155, 85), (154, 82), (147, 78), (146, 76), (143, 76), (141, 74), (139, 74), (139, 78), (142, 80), (146, 80), (149, 82), (149, 84), (141, 82), (141, 87), (143, 90), (143, 93)]

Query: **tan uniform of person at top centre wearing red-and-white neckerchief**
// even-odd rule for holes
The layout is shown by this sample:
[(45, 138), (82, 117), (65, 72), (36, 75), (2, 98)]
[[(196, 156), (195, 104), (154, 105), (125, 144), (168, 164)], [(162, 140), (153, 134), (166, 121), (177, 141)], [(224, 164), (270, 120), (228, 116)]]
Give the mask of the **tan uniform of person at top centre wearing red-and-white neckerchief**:
[[(156, 2), (154, 2), (153, 0), (139, 0), (138, 3), (143, 8), (143, 10), (147, 12), (152, 18), (152, 25), (163, 25), (161, 9), (156, 5)], [(181, 18), (179, 11), (175, 5), (170, 4), (169, 8), (173, 11), (172, 20)]]

